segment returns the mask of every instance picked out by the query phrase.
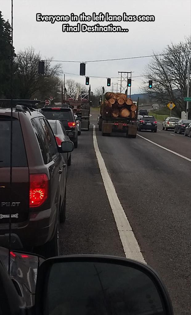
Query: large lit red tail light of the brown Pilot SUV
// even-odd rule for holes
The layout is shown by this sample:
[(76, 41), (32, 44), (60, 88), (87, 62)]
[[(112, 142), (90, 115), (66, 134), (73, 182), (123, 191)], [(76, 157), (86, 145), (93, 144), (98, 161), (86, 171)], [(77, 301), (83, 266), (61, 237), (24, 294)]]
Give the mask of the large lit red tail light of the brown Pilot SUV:
[(48, 176), (46, 174), (30, 174), (30, 208), (41, 206), (48, 197)]

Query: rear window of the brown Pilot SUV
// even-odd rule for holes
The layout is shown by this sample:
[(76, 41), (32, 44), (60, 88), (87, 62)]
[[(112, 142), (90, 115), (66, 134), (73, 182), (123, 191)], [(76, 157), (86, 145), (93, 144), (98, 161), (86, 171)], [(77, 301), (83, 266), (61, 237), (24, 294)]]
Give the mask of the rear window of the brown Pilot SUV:
[[(20, 122), (13, 118), (12, 166), (26, 167), (27, 157)], [(0, 167), (10, 167), (11, 120), (0, 117)]]

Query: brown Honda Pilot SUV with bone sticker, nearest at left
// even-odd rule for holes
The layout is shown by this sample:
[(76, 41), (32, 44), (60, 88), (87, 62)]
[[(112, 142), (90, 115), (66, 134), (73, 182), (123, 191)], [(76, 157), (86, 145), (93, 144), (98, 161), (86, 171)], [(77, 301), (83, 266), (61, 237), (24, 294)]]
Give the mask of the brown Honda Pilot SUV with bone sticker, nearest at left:
[(65, 219), (67, 165), (43, 114), (17, 105), (12, 118), (12, 184), (10, 184), (11, 111), (0, 108), (0, 246), (31, 248), (45, 257), (58, 255), (59, 221)]

